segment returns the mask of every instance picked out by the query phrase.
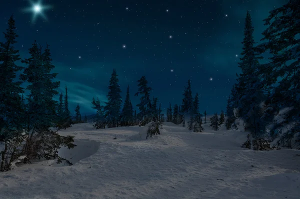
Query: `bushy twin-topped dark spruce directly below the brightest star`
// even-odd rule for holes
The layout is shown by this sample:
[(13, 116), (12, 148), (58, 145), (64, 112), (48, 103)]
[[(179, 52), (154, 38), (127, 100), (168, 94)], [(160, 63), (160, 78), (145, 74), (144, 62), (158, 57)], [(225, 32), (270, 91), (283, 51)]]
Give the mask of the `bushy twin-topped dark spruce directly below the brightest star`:
[(55, 66), (51, 63), (48, 45), (42, 53), (41, 47), (34, 41), (29, 54), (30, 58), (22, 60), (27, 67), (20, 74), (20, 79), (29, 83), (26, 89), (29, 91), (27, 101), (31, 128), (41, 132), (54, 124), (56, 101), (53, 96), (58, 94), (59, 81), (52, 81), (57, 73), (50, 73)]

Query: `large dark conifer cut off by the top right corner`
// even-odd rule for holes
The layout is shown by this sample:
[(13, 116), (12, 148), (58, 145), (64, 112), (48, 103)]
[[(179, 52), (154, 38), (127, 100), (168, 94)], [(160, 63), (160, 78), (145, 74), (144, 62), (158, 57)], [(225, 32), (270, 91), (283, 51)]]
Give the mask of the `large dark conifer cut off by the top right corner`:
[[(286, 115), (286, 121), (294, 121), (294, 123), (283, 135), (284, 145), (290, 145), (291, 139), (300, 140), (300, 136), (294, 137), (300, 131), (299, 10), (299, 0), (289, 0), (281, 7), (271, 10), (268, 17), (264, 19), (264, 25), (268, 27), (262, 32), (261, 40), (265, 40), (265, 43), (259, 45), (260, 52), (269, 50), (272, 54), (269, 62), (263, 64), (259, 70), (259, 74), (264, 77), (264, 89), (271, 90), (268, 106), (274, 110), (293, 107)], [(276, 132), (280, 127), (274, 126), (270, 131)]]

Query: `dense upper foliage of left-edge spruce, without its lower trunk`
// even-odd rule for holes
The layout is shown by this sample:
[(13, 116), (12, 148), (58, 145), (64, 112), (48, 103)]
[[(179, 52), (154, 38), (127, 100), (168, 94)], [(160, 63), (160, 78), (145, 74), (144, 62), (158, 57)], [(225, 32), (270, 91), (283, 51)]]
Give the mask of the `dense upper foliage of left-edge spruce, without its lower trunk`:
[(4, 32), (5, 42), (0, 42), (0, 136), (2, 140), (13, 136), (16, 125), (20, 122), (21, 95), (23, 92), (20, 81), (14, 81), (16, 72), (22, 67), (15, 64), (18, 61), (18, 50), (14, 49), (16, 43), (15, 21), (11, 15), (8, 27)]

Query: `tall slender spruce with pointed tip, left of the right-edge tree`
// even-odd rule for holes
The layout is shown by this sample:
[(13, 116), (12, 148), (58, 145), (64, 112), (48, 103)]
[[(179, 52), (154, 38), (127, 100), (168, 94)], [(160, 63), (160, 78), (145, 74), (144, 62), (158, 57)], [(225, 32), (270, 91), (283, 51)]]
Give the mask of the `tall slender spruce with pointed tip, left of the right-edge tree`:
[[(261, 57), (257, 56), (257, 50), (254, 47), (253, 31), (251, 16), (247, 11), (242, 41), (242, 57), (238, 62), (241, 73), (237, 76), (235, 103), (237, 104), (238, 114), (245, 121), (246, 127), (256, 129), (254, 120), (259, 118), (259, 115), (257, 115), (258, 106), (263, 101), (264, 95), (261, 76), (257, 73), (259, 68), (258, 59)], [(254, 134), (256, 134), (255, 130)]]

